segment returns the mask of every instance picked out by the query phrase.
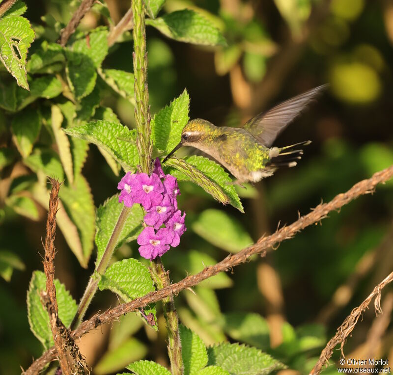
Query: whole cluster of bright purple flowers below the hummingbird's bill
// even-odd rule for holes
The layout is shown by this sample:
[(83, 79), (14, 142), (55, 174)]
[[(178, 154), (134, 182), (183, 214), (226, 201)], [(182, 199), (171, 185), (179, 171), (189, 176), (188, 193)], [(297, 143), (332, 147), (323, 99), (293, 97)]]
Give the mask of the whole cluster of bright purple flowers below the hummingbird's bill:
[[(176, 247), (186, 231), (184, 218), (177, 209), (177, 195), (180, 194), (176, 178), (165, 174), (159, 159), (154, 162), (151, 176), (146, 173), (128, 172), (118, 183), (121, 190), (119, 203), (132, 207), (139, 203), (146, 211), (145, 227), (138, 236), (139, 253), (143, 258), (153, 260)], [(165, 227), (163, 227), (165, 225)]]

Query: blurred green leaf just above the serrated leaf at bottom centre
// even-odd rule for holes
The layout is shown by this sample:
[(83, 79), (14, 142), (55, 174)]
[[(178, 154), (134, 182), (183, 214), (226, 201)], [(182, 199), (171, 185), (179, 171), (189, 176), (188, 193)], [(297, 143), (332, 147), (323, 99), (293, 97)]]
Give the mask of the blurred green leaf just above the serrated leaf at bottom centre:
[(244, 312), (224, 314), (222, 327), (225, 333), (236, 341), (264, 350), (270, 346), (269, 325), (258, 314)]

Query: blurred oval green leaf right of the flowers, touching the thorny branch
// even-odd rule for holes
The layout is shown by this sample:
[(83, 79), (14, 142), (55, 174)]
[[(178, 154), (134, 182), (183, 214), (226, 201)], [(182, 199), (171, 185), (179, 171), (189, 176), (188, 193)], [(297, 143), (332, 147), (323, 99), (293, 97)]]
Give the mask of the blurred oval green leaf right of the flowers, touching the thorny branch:
[(203, 211), (192, 224), (195, 233), (223, 250), (236, 253), (253, 243), (242, 224), (224, 211)]

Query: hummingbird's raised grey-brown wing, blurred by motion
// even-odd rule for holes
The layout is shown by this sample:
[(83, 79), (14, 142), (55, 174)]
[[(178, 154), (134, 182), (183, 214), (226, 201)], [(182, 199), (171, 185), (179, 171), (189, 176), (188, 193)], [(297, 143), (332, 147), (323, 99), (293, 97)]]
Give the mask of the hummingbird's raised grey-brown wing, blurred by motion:
[(303, 109), (326, 87), (315, 87), (295, 96), (278, 106), (259, 113), (243, 125), (243, 129), (252, 134), (266, 147), (271, 147), (276, 137), (297, 117)]

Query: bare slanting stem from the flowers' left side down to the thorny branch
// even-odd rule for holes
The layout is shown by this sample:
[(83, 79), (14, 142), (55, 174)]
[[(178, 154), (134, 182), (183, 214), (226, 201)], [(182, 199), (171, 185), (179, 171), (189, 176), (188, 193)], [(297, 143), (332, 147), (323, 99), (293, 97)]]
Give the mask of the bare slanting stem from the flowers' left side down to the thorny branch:
[(75, 329), (76, 327), (78, 327), (78, 325), (83, 320), (84, 314), (86, 313), (86, 310), (89, 307), (90, 302), (95, 295), (95, 292), (97, 292), (98, 283), (101, 279), (101, 276), (108, 268), (109, 261), (111, 260), (113, 251), (116, 248), (116, 244), (118, 242), (121, 230), (123, 229), (130, 212), (131, 209), (129, 207), (123, 207), (123, 210), (121, 211), (119, 218), (117, 219), (116, 225), (113, 228), (111, 238), (108, 241), (104, 254), (102, 255), (102, 258), (98, 265), (96, 265), (96, 268), (94, 269), (94, 272), (90, 276), (89, 282), (87, 283), (84, 295), (81, 299), (81, 302), (79, 303), (77, 313), (75, 314), (75, 317), (71, 322), (71, 329)]

